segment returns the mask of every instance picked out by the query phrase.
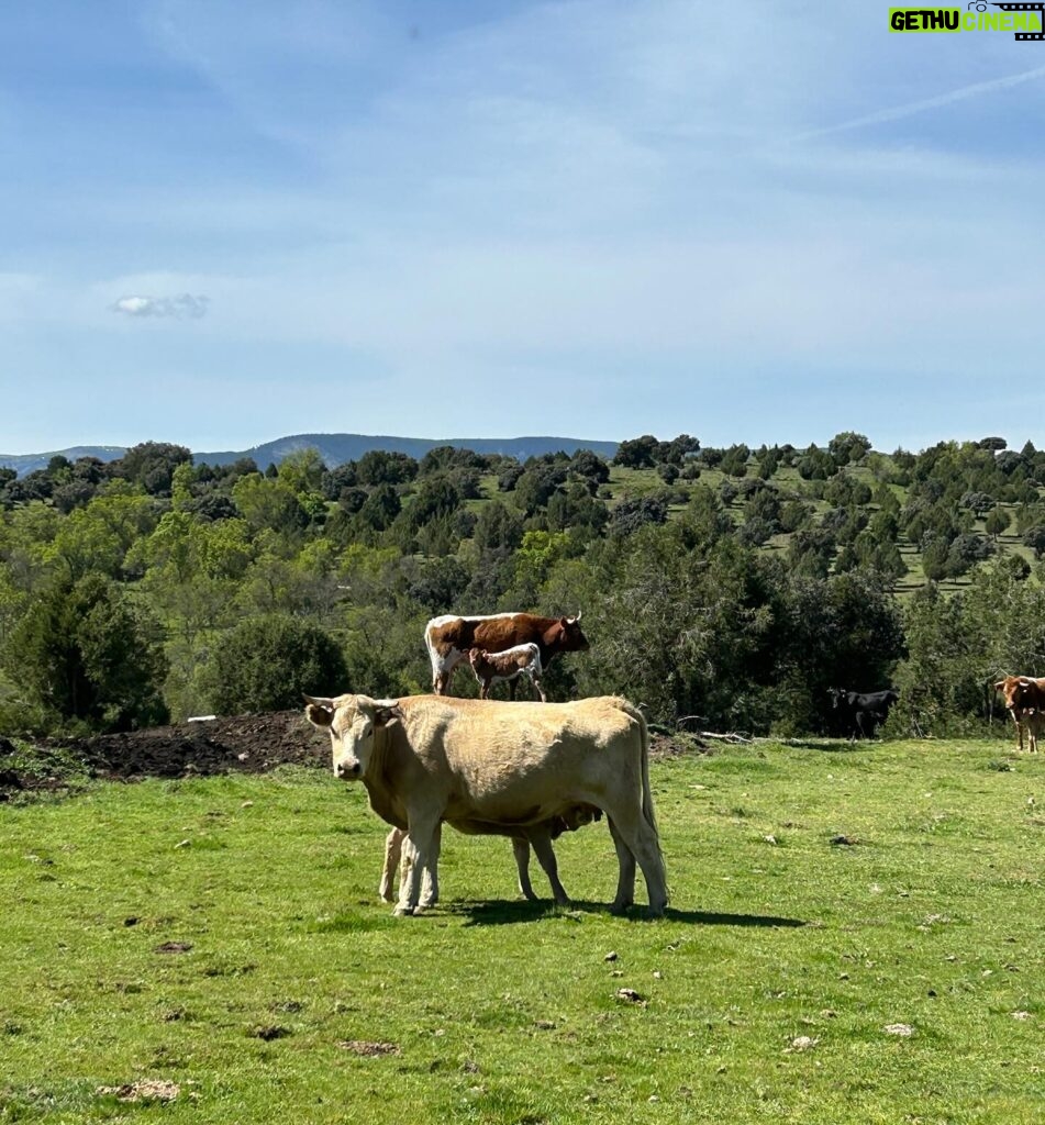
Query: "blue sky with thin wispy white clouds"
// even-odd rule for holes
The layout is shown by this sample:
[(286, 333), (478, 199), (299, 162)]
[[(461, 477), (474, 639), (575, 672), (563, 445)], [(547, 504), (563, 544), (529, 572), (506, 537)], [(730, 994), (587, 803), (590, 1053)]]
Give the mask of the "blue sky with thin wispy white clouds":
[(0, 453), (1045, 444), (1045, 43), (888, 9), (3, 6)]

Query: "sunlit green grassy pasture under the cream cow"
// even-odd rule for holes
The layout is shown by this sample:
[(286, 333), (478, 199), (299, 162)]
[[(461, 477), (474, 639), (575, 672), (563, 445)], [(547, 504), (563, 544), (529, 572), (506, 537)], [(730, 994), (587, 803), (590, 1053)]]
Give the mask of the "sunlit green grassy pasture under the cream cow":
[(0, 809), (0, 1122), (1042, 1119), (1045, 756), (760, 744), (652, 777), (658, 921), (605, 912), (604, 825), (558, 842), (574, 909), (448, 831), (443, 903), (393, 919), (382, 826), (318, 772)]

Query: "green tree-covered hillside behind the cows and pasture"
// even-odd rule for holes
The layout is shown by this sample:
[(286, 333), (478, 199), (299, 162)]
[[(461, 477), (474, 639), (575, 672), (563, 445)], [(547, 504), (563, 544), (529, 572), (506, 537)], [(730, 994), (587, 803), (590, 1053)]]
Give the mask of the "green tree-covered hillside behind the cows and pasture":
[(427, 618), (508, 609), (583, 612), (552, 699), (799, 735), (831, 730), (829, 687), (894, 684), (894, 730), (1001, 729), (991, 682), (1045, 672), (1042, 482), (1029, 443), (857, 433), (641, 436), (613, 461), (301, 449), (264, 472), (148, 442), (0, 470), (0, 734), (427, 691)]

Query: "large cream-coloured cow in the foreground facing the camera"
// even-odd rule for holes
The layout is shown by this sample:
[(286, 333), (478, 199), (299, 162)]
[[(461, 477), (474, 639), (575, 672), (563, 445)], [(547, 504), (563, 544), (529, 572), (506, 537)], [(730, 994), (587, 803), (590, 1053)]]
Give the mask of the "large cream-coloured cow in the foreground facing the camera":
[[(440, 825), (516, 835), (605, 812), (616, 848), (614, 910), (634, 900), (636, 864), (649, 910), (667, 904), (649, 785), (646, 720), (613, 696), (573, 703), (502, 703), (434, 695), (309, 699), (305, 713), (331, 736), (334, 773), (361, 781), (370, 807), (406, 828), (397, 915), (415, 914), (425, 879), (438, 897)], [(550, 835), (550, 828), (548, 834)], [(532, 839), (531, 835), (531, 839)]]

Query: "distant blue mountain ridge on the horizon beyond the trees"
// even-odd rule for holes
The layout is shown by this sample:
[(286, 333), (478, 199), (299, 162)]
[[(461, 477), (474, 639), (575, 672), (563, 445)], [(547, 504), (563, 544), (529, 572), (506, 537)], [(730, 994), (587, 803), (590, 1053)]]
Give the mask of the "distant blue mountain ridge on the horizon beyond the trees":
[[(274, 441), (267, 441), (251, 449), (211, 453), (192, 450), (192, 460), (197, 465), (231, 465), (241, 458), (250, 457), (263, 471), (270, 465), (279, 465), (285, 457), (301, 449), (318, 450), (327, 468), (335, 468), (344, 461), (358, 461), (363, 453), (375, 449), (388, 453), (406, 453), (421, 460), (430, 449), (452, 446), (454, 449), (470, 449), (476, 453), (499, 453), (503, 457), (514, 457), (519, 461), (525, 461), (528, 457), (541, 457), (544, 453), (560, 451), (573, 456), (578, 449), (591, 449), (593, 453), (611, 458), (616, 452), (618, 444), (615, 441), (549, 436), (435, 439), (361, 433), (299, 433), (288, 438), (277, 438)], [(47, 453), (0, 453), (0, 468), (15, 469), (21, 477), (37, 469), (46, 469), (52, 457), (67, 457), (71, 461), (79, 457), (97, 457), (101, 461), (115, 461), (126, 452), (127, 447), (124, 446), (74, 446), (71, 449), (58, 449)]]

